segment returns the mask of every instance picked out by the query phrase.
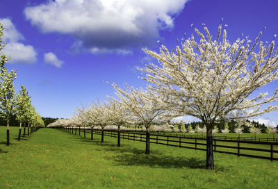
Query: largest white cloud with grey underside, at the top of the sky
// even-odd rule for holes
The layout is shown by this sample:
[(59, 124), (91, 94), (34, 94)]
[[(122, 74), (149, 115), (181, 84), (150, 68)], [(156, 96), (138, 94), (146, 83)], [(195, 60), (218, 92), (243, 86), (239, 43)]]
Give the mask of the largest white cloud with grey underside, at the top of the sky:
[(174, 26), (186, 1), (56, 0), (26, 7), (24, 14), (43, 33), (74, 35), (92, 53), (111, 53), (155, 42), (159, 30)]

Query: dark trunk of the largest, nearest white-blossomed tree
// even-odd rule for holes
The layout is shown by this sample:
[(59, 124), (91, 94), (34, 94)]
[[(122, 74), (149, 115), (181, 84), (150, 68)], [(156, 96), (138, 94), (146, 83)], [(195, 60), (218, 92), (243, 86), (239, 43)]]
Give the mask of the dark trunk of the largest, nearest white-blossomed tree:
[(214, 170), (212, 127), (206, 129), (206, 169)]

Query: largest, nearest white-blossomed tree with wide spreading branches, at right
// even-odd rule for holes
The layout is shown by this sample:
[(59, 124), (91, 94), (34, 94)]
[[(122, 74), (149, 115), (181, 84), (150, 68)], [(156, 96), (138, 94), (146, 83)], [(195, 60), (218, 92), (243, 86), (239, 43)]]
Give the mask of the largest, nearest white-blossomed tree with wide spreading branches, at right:
[(195, 28), (199, 42), (192, 35), (172, 52), (165, 46), (159, 54), (143, 49), (158, 64), (149, 63), (140, 70), (146, 73), (143, 79), (152, 83), (149, 88), (168, 97), (168, 106), (206, 124), (206, 168), (213, 170), (215, 123), (277, 110), (277, 106), (263, 105), (277, 101), (278, 89), (271, 95), (254, 91), (277, 79), (278, 56), (274, 40), (259, 41), (261, 32), (254, 43), (248, 38), (230, 43), (222, 26), (215, 40), (206, 26), (204, 31)]

